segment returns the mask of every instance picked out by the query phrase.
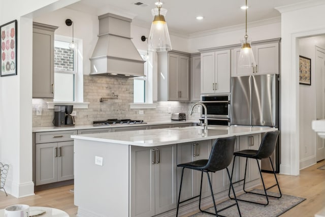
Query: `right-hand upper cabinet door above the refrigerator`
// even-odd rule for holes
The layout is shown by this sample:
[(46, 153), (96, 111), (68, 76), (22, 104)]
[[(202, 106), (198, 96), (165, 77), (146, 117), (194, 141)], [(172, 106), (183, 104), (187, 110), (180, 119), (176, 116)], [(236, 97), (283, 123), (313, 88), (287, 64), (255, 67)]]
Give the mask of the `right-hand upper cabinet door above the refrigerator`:
[(279, 74), (279, 43), (255, 45), (256, 75)]

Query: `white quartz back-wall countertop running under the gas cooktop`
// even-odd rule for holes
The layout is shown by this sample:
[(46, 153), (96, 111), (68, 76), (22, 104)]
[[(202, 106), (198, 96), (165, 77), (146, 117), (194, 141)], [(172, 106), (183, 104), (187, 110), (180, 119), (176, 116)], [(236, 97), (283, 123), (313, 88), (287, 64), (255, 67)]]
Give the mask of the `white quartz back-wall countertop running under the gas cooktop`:
[(167, 120), (167, 121), (150, 121), (146, 123), (137, 123), (136, 125), (106, 125), (106, 126), (92, 126), (92, 125), (75, 125), (73, 127), (34, 127), (32, 128), (33, 133), (39, 132), (51, 132), (51, 131), (66, 131), (66, 130), (86, 130), (86, 129), (103, 129), (103, 128), (122, 128), (122, 127), (140, 127), (140, 126), (150, 126), (150, 125), (175, 125), (178, 123), (196, 123), (199, 121), (194, 120)]

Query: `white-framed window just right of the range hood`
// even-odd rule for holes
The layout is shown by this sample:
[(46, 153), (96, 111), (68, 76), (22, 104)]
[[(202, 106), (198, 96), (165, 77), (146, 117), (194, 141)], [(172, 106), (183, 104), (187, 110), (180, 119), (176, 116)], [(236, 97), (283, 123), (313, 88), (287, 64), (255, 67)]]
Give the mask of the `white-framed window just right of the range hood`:
[(134, 78), (134, 103), (152, 104), (152, 53), (139, 51), (144, 63), (144, 77)]

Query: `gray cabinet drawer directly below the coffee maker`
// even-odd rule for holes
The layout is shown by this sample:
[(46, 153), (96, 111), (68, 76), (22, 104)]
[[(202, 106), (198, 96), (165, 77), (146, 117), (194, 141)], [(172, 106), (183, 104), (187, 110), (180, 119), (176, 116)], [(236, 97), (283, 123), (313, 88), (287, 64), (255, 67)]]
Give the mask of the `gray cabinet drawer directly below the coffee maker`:
[(56, 131), (56, 132), (41, 132), (35, 134), (35, 142), (48, 143), (48, 142), (62, 142), (72, 141), (71, 135), (77, 135), (77, 131)]

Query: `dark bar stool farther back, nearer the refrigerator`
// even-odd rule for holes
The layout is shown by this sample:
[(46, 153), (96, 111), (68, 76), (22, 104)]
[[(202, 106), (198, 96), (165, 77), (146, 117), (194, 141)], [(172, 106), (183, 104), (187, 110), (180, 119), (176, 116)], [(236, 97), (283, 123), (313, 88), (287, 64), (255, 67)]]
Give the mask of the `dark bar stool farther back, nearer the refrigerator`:
[[(236, 199), (236, 201), (239, 200), (239, 201), (245, 201), (245, 202), (255, 203), (255, 204), (261, 204), (261, 205), (268, 205), (269, 204), (269, 197), (274, 197), (274, 198), (281, 198), (282, 197), (281, 190), (280, 190), (280, 185), (279, 185), (278, 179), (276, 178), (276, 174), (275, 174), (274, 167), (273, 167), (273, 164), (272, 164), (272, 161), (271, 161), (271, 157), (270, 157), (271, 154), (273, 153), (274, 149), (275, 149), (275, 146), (276, 146), (276, 143), (277, 143), (277, 140), (278, 140), (278, 136), (279, 136), (279, 131), (267, 132), (267, 133), (265, 133), (265, 135), (264, 135), (264, 137), (262, 139), (261, 145), (259, 146), (258, 150), (247, 149), (247, 150), (241, 150), (241, 151), (234, 152), (234, 156), (235, 157), (234, 157), (234, 162), (233, 162), (233, 169), (232, 169), (232, 177), (231, 177), (231, 179), (233, 179), (234, 165), (235, 165), (236, 157), (246, 158), (246, 166), (245, 166), (244, 179), (241, 179), (239, 181), (236, 181), (233, 184), (238, 183), (240, 181), (244, 181), (243, 190), (244, 190), (245, 193), (265, 196), (267, 202), (266, 203), (258, 203), (258, 202), (255, 202), (255, 201), (248, 201), (248, 200), (237, 199), (236, 197), (232, 198), (230, 196), (230, 191), (229, 191), (228, 196), (229, 196), (230, 199)], [(247, 192), (245, 190), (247, 159), (249, 159), (249, 158), (256, 159), (256, 163), (257, 163), (257, 166), (258, 166), (259, 175), (261, 176), (261, 180), (262, 180), (263, 189), (264, 189), (264, 193), (265, 194), (259, 194), (259, 193), (254, 193), (254, 192)], [(265, 158), (269, 158), (270, 159), (270, 163), (271, 163), (271, 166), (272, 166), (274, 178), (275, 178), (275, 181), (276, 181), (276, 184), (272, 185), (269, 188), (265, 188), (265, 183), (264, 183), (264, 180), (263, 180), (261, 168), (259, 167), (259, 164), (258, 164), (258, 160), (265, 159)], [(269, 189), (271, 189), (271, 188), (273, 188), (273, 187), (275, 187), (275, 186), (278, 187), (280, 196), (271, 196), (271, 195), (268, 195), (266, 191), (269, 190)]]

